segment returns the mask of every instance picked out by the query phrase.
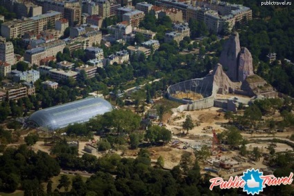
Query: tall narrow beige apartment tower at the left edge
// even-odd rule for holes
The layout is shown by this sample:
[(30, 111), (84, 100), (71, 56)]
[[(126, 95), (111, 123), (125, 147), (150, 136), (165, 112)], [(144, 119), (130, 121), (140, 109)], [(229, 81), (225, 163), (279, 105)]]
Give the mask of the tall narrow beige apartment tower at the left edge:
[(0, 37), (0, 60), (10, 65), (15, 64), (15, 54), (12, 42), (6, 42), (5, 38)]

